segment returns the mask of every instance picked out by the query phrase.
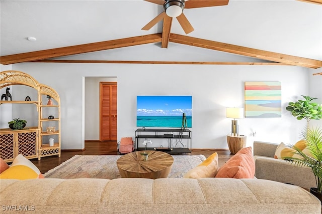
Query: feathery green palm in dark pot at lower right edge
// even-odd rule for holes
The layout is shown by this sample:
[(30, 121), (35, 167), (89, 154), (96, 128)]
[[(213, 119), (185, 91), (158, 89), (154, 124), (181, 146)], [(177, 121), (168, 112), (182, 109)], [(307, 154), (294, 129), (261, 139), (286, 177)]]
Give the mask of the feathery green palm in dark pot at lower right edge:
[(308, 153), (304, 153), (300, 148), (293, 146), (294, 154), (300, 157), (285, 157), (287, 161), (298, 166), (307, 166), (312, 169), (315, 176), (316, 188), (311, 187), (310, 192), (322, 201), (322, 129), (313, 128), (307, 132), (302, 132), (304, 140), (306, 140), (306, 149)]

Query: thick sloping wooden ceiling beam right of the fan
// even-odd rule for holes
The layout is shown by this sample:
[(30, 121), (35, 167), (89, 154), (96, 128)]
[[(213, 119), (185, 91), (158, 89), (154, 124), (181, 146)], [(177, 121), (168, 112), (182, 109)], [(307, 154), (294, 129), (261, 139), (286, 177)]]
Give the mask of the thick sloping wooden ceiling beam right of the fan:
[(230, 45), (227, 43), (214, 42), (211, 40), (204, 40), (178, 34), (170, 34), (169, 41), (194, 47), (207, 48), (216, 51), (223, 51), (232, 54), (239, 54), (243, 56), (269, 60), (273, 62), (285, 63), (288, 65), (296, 65), (315, 69), (322, 67), (322, 61), (319, 60), (296, 57), (292, 55), (280, 54), (270, 51), (263, 51), (243, 46)]

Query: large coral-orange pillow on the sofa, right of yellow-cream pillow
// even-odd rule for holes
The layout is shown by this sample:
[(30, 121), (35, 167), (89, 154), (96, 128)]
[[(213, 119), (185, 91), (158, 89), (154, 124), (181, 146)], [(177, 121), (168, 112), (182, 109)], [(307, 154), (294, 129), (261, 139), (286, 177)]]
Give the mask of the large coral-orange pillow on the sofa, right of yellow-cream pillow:
[(240, 149), (223, 166), (221, 166), (215, 177), (228, 178), (254, 178), (255, 162), (252, 147)]

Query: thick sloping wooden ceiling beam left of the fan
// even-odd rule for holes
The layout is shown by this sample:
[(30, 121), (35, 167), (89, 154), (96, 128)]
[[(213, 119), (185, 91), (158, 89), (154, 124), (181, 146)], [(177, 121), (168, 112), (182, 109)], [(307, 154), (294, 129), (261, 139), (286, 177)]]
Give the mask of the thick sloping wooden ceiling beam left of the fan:
[(144, 36), (130, 37), (125, 39), (110, 40), (104, 42), (89, 43), (83, 45), (68, 46), (63, 48), (54, 48), (42, 51), (34, 51), (22, 54), (14, 54), (0, 57), (0, 63), (3, 65), (32, 62), (54, 57), (69, 56), (73, 54), (83, 54), (95, 51), (103, 51), (114, 48), (123, 48), (135, 45), (155, 43), (162, 41), (162, 34), (150, 34)]

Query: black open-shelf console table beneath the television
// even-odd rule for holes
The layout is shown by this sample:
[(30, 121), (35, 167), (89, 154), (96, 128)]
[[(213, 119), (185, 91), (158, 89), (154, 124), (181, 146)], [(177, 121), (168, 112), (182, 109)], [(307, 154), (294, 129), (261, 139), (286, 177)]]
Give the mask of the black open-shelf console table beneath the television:
[[(145, 150), (145, 147), (139, 147), (140, 139), (168, 139), (168, 147), (155, 148), (151, 146), (147, 147), (146, 150), (164, 151), (169, 154), (190, 153), (191, 155), (191, 130), (187, 128), (138, 128), (135, 130), (135, 149), (137, 151)], [(172, 139), (175, 139), (176, 142), (172, 142)], [(176, 146), (180, 144), (182, 147), (171, 145), (172, 143), (176, 143)], [(143, 144), (141, 145), (143, 146)]]

